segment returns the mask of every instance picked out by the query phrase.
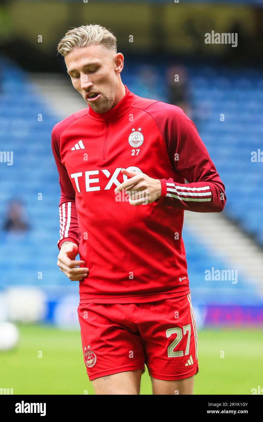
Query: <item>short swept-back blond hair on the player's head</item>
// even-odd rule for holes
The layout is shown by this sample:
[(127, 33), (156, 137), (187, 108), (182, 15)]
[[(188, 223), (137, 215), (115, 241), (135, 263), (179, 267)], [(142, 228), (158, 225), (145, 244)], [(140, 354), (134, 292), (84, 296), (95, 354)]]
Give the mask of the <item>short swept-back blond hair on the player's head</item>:
[(57, 51), (65, 57), (74, 48), (85, 47), (90, 44), (102, 44), (117, 53), (117, 38), (114, 34), (100, 25), (81, 25), (70, 29), (60, 40)]

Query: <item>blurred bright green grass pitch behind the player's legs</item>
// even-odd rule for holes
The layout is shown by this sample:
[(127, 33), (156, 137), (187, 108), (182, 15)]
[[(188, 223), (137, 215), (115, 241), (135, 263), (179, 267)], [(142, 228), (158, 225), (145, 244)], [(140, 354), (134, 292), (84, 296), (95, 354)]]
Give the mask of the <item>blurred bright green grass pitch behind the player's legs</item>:
[[(0, 352), (0, 388), (15, 394), (94, 394), (84, 366), (78, 331), (19, 325), (20, 341)], [(263, 331), (204, 329), (198, 333), (199, 374), (194, 394), (251, 394), (263, 387)], [(38, 354), (42, 352), (42, 358)], [(225, 357), (222, 356), (224, 352)], [(148, 371), (141, 394), (152, 394)]]

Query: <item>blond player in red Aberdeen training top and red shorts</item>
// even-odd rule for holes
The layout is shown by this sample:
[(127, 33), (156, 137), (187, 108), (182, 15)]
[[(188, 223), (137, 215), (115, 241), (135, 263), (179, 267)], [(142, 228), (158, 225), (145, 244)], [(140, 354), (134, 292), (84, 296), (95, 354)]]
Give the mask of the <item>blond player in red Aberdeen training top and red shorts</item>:
[(52, 131), (57, 265), (79, 281), (84, 362), (97, 394), (139, 394), (145, 363), (153, 394), (193, 394), (197, 333), (183, 216), (222, 211), (225, 187), (182, 109), (122, 83), (116, 41), (87, 25), (58, 45), (88, 107)]

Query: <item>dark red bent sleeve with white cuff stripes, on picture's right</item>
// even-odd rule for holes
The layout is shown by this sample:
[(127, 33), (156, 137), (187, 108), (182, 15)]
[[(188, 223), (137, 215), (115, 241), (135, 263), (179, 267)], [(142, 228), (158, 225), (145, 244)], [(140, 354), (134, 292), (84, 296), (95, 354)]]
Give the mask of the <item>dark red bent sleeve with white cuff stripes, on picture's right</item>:
[[(155, 104), (145, 111), (155, 119), (178, 178), (159, 179), (162, 192), (155, 202), (196, 212), (222, 211), (226, 202), (225, 186), (194, 123), (181, 108), (170, 104), (165, 107), (165, 117), (160, 116)], [(182, 177), (189, 183), (182, 183)]]

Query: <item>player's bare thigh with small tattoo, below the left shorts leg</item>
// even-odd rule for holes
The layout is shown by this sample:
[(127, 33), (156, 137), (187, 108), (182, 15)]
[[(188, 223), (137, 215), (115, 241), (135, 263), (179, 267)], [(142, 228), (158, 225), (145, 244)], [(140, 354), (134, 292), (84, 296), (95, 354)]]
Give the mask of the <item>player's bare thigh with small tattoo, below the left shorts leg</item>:
[(138, 395), (142, 372), (142, 369), (119, 372), (93, 379), (91, 382), (96, 394)]

